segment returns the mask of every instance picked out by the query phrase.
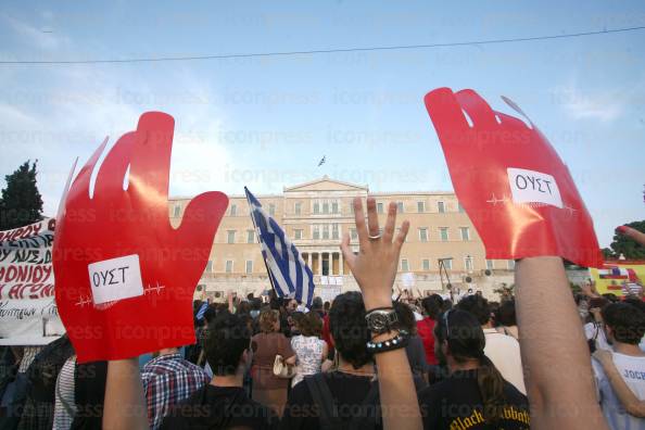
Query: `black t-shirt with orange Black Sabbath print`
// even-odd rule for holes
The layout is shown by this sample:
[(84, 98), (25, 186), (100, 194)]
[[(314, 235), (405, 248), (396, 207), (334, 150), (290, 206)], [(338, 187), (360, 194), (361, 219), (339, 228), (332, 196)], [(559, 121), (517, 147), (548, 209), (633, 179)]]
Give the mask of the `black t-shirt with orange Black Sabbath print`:
[(486, 423), (477, 384), (477, 370), (455, 371), (419, 393), (423, 428), (432, 430), (504, 429), (526, 430), (530, 426), (529, 402), (513, 384), (504, 381), (504, 419)]

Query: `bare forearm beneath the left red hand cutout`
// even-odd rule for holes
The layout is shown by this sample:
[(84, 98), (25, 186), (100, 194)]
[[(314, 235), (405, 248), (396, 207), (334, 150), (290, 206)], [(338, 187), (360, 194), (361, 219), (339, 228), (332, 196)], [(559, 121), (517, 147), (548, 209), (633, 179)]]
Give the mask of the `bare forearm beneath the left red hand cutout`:
[(103, 428), (148, 430), (148, 408), (139, 374), (139, 359), (108, 362)]

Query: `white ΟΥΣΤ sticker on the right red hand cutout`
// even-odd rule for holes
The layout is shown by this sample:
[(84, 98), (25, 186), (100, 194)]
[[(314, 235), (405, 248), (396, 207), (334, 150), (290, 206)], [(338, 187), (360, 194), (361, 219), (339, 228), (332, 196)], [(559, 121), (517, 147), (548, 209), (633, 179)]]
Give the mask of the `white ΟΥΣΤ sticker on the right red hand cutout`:
[(544, 203), (562, 208), (560, 190), (551, 175), (524, 168), (507, 168), (515, 203)]

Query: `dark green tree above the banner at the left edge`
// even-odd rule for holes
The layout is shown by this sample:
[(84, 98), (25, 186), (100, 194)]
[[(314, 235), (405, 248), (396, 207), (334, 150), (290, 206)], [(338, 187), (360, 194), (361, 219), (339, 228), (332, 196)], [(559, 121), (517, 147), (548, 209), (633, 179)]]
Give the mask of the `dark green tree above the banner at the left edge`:
[(7, 187), (0, 199), (0, 230), (23, 227), (42, 219), (42, 197), (36, 185), (38, 161), (26, 161), (4, 177)]

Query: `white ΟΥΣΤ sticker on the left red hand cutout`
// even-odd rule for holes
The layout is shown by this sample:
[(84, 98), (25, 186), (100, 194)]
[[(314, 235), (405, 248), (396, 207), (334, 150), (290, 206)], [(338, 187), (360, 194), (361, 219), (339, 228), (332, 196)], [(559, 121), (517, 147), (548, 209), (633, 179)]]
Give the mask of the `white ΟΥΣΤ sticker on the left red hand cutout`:
[(88, 265), (96, 304), (143, 295), (139, 255), (126, 255)]

